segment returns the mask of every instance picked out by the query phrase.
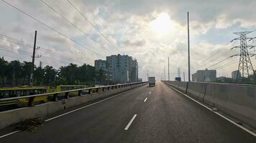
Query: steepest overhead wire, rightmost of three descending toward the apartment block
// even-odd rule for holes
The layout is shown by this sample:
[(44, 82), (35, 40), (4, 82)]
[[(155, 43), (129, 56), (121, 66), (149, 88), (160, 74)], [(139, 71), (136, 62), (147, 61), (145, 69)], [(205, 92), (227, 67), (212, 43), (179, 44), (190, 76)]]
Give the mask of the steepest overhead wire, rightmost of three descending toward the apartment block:
[(76, 11), (78, 11), (79, 14), (81, 14), (81, 16), (83, 16), (84, 19), (86, 19), (86, 21), (88, 21), (88, 23), (89, 23), (91, 26), (93, 26), (94, 29), (96, 29), (96, 31), (99, 32), (99, 34), (101, 34), (101, 36), (104, 37), (104, 39), (106, 39), (106, 41), (109, 41), (109, 44), (111, 44), (112, 46), (114, 46), (114, 48), (115, 48), (117, 51), (119, 51), (119, 53), (122, 53), (122, 52), (116, 47), (116, 45), (114, 45), (114, 44), (109, 40), (109, 38), (108, 38), (107, 36), (105, 36), (105, 35), (102, 33), (101, 30), (97, 29), (97, 27), (95, 26), (95, 24), (93, 24), (93, 22), (91, 22), (91, 21), (87, 18), (87, 16), (85, 16), (85, 15), (84, 15), (78, 8), (76, 8), (76, 6), (75, 6), (74, 4), (72, 4), (69, 0), (67, 0), (67, 1), (68, 1), (68, 3), (69, 3), (71, 6), (73, 6), (74, 9), (76, 9)]

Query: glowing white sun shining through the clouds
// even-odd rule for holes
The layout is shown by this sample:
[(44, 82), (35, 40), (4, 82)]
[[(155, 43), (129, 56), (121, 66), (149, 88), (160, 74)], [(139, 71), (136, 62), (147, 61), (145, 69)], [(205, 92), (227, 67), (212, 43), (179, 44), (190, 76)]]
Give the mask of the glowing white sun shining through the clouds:
[(173, 21), (167, 13), (161, 13), (150, 22), (150, 29), (157, 34), (168, 34), (173, 29)]

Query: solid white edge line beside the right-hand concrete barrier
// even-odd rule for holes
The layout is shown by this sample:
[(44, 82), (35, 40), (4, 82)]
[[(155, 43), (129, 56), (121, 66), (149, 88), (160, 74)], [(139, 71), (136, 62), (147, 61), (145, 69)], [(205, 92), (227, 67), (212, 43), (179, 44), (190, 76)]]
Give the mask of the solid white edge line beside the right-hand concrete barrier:
[[(170, 86), (169, 86), (169, 87), (170, 87)], [(170, 88), (174, 89), (176, 92), (179, 92), (180, 94), (183, 94), (183, 93), (180, 92), (178, 89), (175, 89), (175, 88), (173, 88), (173, 87), (170, 87)], [(219, 116), (222, 117), (223, 119), (226, 119), (228, 122), (234, 124), (235, 126), (239, 127), (240, 129), (243, 129), (245, 132), (248, 132), (249, 134), (252, 134), (252, 136), (256, 137), (256, 134), (255, 134), (254, 132), (250, 131), (249, 129), (246, 129), (245, 127), (242, 127), (241, 125), (239, 125), (239, 124), (237, 124), (236, 122), (232, 121), (231, 119), (225, 117), (224, 115), (219, 114), (218, 112), (212, 111), (211, 108), (207, 107), (207, 106), (204, 105), (204, 104), (201, 104), (200, 102), (196, 101), (196, 99), (193, 99), (193, 98), (189, 97), (187, 94), (183, 94), (183, 96), (188, 97), (188, 98), (191, 99), (193, 102), (196, 102), (196, 103), (200, 104), (202, 107), (205, 107), (206, 109), (209, 109), (211, 112), (213, 112), (213, 113), (219, 115)]]

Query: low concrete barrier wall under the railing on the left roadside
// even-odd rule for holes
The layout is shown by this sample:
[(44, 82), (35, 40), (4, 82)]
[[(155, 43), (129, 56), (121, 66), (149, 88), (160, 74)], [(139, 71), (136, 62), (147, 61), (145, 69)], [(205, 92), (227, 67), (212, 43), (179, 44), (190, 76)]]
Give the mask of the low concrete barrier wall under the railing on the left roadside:
[(45, 104), (38, 104), (34, 107), (23, 107), (19, 109), (0, 112), (0, 129), (7, 127), (11, 124), (22, 122), (26, 119), (45, 117), (48, 114), (52, 114), (54, 112), (58, 112), (63, 109), (74, 107), (79, 104), (91, 102), (96, 99), (103, 99), (106, 97), (110, 97), (111, 95), (119, 94), (121, 92), (125, 92), (127, 90), (134, 89), (136, 87), (140, 87), (145, 84), (146, 83), (134, 84), (128, 87), (122, 87), (122, 88), (110, 89), (110, 90), (105, 89), (104, 92), (96, 92), (92, 94), (86, 94), (81, 97), (72, 97), (69, 99), (62, 99), (58, 102), (47, 102)]

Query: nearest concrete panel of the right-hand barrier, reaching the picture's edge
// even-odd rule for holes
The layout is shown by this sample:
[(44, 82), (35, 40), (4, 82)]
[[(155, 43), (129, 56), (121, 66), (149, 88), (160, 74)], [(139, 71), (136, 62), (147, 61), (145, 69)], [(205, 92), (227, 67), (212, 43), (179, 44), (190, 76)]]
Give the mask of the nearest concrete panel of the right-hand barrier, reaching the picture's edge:
[(256, 129), (256, 87), (207, 83), (204, 102)]

